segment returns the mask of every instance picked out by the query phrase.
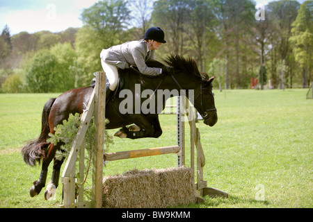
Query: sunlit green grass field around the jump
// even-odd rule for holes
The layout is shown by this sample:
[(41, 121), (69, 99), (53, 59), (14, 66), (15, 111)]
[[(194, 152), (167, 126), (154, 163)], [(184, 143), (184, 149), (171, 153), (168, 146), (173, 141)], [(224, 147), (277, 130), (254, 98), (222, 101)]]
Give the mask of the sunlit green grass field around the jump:
[[(197, 126), (206, 156), (204, 179), (208, 187), (226, 191), (229, 198), (205, 198), (205, 203), (179, 207), (313, 207), (313, 101), (305, 99), (306, 92), (216, 90), (218, 123), (210, 128), (200, 121)], [(23, 142), (40, 133), (43, 105), (57, 95), (0, 94), (0, 207), (61, 204), (62, 185), (54, 200), (45, 201), (44, 190), (35, 198), (29, 196), (40, 167), (24, 164), (20, 154)], [(160, 121), (163, 135), (159, 139), (114, 138), (110, 151), (175, 145), (175, 115), (161, 115)], [(188, 147), (188, 127), (186, 133)], [(119, 160), (109, 162), (104, 173), (175, 164), (176, 155)], [(48, 180), (50, 176), (51, 170)]]

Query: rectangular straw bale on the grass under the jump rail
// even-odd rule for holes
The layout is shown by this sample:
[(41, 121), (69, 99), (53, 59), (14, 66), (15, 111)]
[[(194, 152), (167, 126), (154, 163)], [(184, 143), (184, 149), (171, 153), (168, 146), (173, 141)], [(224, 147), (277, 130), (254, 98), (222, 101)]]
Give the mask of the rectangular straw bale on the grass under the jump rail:
[(159, 208), (196, 203), (193, 172), (187, 167), (134, 169), (103, 180), (103, 206)]

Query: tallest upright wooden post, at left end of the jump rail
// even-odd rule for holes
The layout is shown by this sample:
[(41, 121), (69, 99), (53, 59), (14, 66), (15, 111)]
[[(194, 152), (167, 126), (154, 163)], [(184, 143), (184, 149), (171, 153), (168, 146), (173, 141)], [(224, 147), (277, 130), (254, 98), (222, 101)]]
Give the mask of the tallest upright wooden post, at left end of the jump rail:
[(104, 121), (106, 108), (106, 76), (97, 72), (95, 85), (95, 150), (93, 152), (92, 207), (102, 207)]

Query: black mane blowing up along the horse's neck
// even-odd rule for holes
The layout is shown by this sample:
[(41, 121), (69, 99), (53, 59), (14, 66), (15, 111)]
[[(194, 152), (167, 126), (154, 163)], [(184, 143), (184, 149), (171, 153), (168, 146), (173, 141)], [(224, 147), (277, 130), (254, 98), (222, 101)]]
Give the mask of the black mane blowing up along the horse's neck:
[(166, 59), (164, 59), (163, 62), (165, 62), (166, 65), (170, 67), (180, 69), (185, 73), (193, 74), (193, 76), (195, 76), (196, 78), (202, 79), (197, 63), (195, 62), (195, 60), (193, 60), (193, 58), (184, 58), (182, 56), (171, 54)]

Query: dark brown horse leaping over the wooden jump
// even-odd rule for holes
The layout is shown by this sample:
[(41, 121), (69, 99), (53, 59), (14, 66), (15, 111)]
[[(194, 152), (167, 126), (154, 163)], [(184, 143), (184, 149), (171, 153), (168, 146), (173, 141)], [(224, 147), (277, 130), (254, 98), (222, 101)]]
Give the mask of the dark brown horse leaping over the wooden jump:
[[(160, 67), (168, 71), (164, 71), (160, 76), (152, 78), (151, 76), (141, 74), (134, 68), (120, 69), (121, 76), (125, 75), (125, 83), (119, 89), (119, 96), (115, 94), (115, 96), (106, 102), (105, 117), (109, 119), (109, 123), (106, 123), (106, 129), (121, 128), (117, 135), (129, 139), (160, 137), (162, 129), (159, 123), (159, 113), (165, 108), (166, 99), (175, 94), (171, 93), (167, 96), (161, 94), (162, 98), (157, 98), (159, 95), (157, 92), (159, 90), (168, 90), (168, 92), (174, 92), (176, 90), (179, 95), (185, 93), (190, 100), (191, 96), (193, 96), (193, 101), (191, 102), (193, 102), (194, 107), (202, 115), (204, 124), (208, 126), (214, 126), (216, 124), (218, 116), (214, 103), (214, 93), (212, 91), (212, 81), (215, 76), (209, 78), (207, 74), (200, 74), (195, 60), (192, 58), (183, 58), (182, 56), (170, 55), (163, 60), (163, 63), (154, 60), (150, 64), (147, 62), (147, 65), (148, 67)], [(167, 69), (168, 67), (170, 69)], [(125, 105), (126, 99), (121, 96), (121, 92), (123, 90), (131, 92), (132, 97), (130, 96), (130, 100), (128, 101), (136, 103), (136, 99), (138, 101), (138, 92), (136, 92), (138, 88), (141, 90), (140, 94), (144, 91), (150, 92), (150, 94), (146, 94), (145, 96), (142, 94), (141, 96), (139, 95), (140, 105), (151, 101), (153, 96), (155, 96), (154, 101), (161, 101), (161, 103), (157, 105), (150, 103), (150, 107), (147, 108), (150, 112), (143, 112), (144, 110), (139, 110), (138, 112), (138, 108), (135, 106), (131, 108), (131, 104), (127, 103)], [(63, 120), (68, 119), (70, 114), (83, 113), (92, 92), (93, 86), (70, 89), (57, 98), (49, 99), (45, 103), (42, 110), (42, 129), (40, 136), (38, 139), (31, 140), (22, 147), (22, 156), (26, 164), (35, 166), (36, 162), (40, 164), (42, 161), (40, 177), (33, 182), (33, 186), (30, 189), (31, 197), (40, 194), (42, 188), (45, 187), (48, 166), (52, 160), (54, 160), (54, 167), (51, 182), (49, 182), (45, 191), (45, 199), (48, 200), (51, 197), (51, 187), (54, 190), (58, 187), (60, 169), (64, 159), (57, 160), (54, 155), (62, 144), (61, 142), (58, 144), (47, 142), (49, 133), (55, 133), (54, 128), (58, 124), (62, 124)], [(124, 104), (124, 106), (121, 104)], [(128, 110), (128, 112), (125, 112), (125, 110)], [(131, 124), (138, 126), (139, 130), (129, 130), (126, 126)]]

